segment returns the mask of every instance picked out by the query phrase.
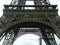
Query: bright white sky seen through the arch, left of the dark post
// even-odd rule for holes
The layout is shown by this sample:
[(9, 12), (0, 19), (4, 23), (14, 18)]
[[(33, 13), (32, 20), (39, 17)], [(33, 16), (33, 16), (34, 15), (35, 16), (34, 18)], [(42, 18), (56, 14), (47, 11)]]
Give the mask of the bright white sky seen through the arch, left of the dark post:
[[(35, 37), (35, 38), (33, 38)], [(20, 42), (20, 43), (16, 43)], [(13, 45), (39, 45), (39, 36), (33, 34), (26, 34), (19, 37)]]

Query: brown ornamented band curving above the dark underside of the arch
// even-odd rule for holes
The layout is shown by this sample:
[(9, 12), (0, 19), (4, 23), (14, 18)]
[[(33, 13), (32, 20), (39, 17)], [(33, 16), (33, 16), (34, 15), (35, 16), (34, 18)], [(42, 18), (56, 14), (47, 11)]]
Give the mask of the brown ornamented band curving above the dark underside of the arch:
[[(4, 26), (4, 28), (2, 29), (3, 31), (1, 31), (1, 32), (4, 32), (7, 29), (9, 29), (10, 27), (20, 24), (20, 23), (23, 23), (23, 22), (38, 22), (38, 23), (42, 23), (47, 26), (50, 26), (51, 28), (54, 29), (54, 31), (59, 30), (58, 27), (50, 19), (39, 19), (39, 18), (37, 18), (37, 19), (28, 18), (27, 19), (27, 18), (24, 18), (24, 19), (10, 19), (10, 21)], [(59, 33), (59, 31), (58, 31), (58, 33)]]

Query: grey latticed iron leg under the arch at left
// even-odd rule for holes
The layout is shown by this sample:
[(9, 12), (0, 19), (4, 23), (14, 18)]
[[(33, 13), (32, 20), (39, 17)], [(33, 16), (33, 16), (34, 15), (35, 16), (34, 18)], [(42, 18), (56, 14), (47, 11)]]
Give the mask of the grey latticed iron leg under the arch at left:
[(10, 32), (8, 32), (5, 36), (5, 39), (3, 41), (2, 45), (12, 45), (13, 44), (13, 40), (15, 39), (15, 34), (14, 31), (11, 30)]

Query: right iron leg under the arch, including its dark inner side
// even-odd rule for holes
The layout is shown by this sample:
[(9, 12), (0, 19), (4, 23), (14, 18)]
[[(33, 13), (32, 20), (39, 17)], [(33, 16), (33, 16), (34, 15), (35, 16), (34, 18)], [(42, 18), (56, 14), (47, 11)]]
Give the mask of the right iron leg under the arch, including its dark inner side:
[(57, 45), (54, 38), (54, 34), (52, 32), (50, 32), (49, 30), (42, 29), (41, 33), (42, 33), (43, 39), (46, 42), (46, 45)]

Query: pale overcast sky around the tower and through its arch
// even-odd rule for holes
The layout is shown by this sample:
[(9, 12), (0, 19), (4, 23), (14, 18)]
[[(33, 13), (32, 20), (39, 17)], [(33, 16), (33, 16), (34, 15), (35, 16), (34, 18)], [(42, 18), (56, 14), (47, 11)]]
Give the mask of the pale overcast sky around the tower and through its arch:
[[(50, 1), (50, 3), (52, 4), (52, 5), (58, 5), (57, 6), (57, 9), (58, 9), (58, 14), (60, 15), (60, 0), (49, 0)], [(0, 1), (0, 17), (3, 15), (3, 8), (4, 8), (4, 6), (3, 5), (5, 5), (5, 4), (10, 4), (11, 3), (11, 0), (1, 0)], [(32, 38), (32, 42), (31, 42), (31, 39), (29, 38), (29, 37), (36, 37), (36, 38)], [(24, 37), (26, 38), (26, 39), (24, 39)], [(55, 36), (56, 37), (56, 36)], [(21, 39), (21, 40), (20, 40)], [(18, 38), (15, 42), (21, 42), (21, 43), (19, 43), (19, 45), (38, 45), (39, 43), (38, 43), (38, 39), (39, 39), (39, 37), (38, 36), (36, 36), (36, 35), (31, 35), (31, 34), (28, 34), (28, 35), (25, 35), (25, 36), (22, 36), (22, 37), (20, 37), (20, 38)], [(2, 39), (2, 41), (0, 42), (0, 45), (2, 45), (2, 42), (3, 42), (3, 40), (4, 39)], [(20, 40), (20, 41), (19, 41)], [(23, 40), (25, 40), (25, 41), (23, 41)], [(36, 41), (35, 41), (36, 40)], [(43, 41), (43, 40), (42, 40)], [(56, 37), (56, 41), (57, 41), (57, 43), (58, 44), (60, 44), (60, 40)], [(23, 43), (22, 43), (23, 42)], [(28, 43), (27, 43), (28, 42)], [(37, 42), (37, 43), (36, 43)], [(44, 42), (44, 41), (43, 41)], [(32, 43), (32, 44), (31, 44)], [(33, 44), (34, 43), (34, 44)], [(14, 43), (13, 45), (18, 45), (18, 43)], [(43, 45), (44, 45), (44, 43), (43, 43)]]

